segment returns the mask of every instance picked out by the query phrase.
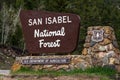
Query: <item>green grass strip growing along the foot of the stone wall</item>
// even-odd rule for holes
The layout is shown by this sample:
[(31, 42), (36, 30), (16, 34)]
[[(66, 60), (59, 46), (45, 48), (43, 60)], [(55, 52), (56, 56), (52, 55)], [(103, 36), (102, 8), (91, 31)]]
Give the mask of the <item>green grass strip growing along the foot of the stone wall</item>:
[(33, 70), (30, 68), (22, 67), (20, 70), (16, 72), (12, 72), (13, 75), (39, 75), (39, 76), (62, 76), (62, 75), (102, 75), (102, 76), (111, 76), (116, 74), (116, 70), (108, 68), (108, 67), (92, 67), (87, 68), (86, 70), (74, 69), (70, 71), (59, 70), (59, 71), (48, 71), (48, 70)]

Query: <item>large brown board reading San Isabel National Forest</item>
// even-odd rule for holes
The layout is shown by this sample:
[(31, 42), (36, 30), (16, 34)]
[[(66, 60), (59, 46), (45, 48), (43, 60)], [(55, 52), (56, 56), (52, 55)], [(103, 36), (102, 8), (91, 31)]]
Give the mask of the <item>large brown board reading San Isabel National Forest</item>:
[(77, 46), (80, 17), (70, 13), (22, 10), (26, 49), (31, 54), (68, 53)]

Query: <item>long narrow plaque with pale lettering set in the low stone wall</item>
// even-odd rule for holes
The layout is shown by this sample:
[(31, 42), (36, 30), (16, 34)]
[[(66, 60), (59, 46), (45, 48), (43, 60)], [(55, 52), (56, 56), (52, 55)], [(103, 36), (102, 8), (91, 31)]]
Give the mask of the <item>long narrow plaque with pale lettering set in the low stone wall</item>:
[(49, 65), (49, 64), (69, 64), (70, 58), (47, 58), (47, 59), (23, 59), (22, 64), (40, 64), (40, 65)]

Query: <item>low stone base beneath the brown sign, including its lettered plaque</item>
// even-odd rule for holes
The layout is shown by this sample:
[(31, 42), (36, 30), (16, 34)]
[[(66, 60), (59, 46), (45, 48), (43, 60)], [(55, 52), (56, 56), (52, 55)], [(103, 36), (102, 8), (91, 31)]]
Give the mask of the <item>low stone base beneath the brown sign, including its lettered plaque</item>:
[(92, 60), (89, 55), (56, 55), (56, 56), (25, 56), (17, 57), (12, 71), (21, 67), (28, 67), (34, 70), (73, 70), (86, 69), (91, 67)]

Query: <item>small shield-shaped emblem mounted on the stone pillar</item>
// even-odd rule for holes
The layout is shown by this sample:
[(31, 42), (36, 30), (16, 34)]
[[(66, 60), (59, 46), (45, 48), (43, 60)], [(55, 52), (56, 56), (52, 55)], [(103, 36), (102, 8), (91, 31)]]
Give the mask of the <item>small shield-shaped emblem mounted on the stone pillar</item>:
[(93, 30), (92, 41), (103, 41), (103, 30)]

